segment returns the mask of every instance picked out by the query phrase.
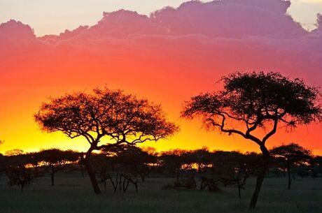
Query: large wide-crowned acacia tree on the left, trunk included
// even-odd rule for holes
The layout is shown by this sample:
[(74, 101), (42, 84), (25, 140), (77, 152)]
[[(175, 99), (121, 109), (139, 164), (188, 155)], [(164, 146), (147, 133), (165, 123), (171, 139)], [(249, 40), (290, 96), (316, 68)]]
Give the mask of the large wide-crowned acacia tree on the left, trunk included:
[(107, 88), (51, 98), (34, 117), (43, 131), (62, 131), (69, 138), (82, 136), (87, 140), (90, 148), (81, 159), (95, 193), (101, 191), (90, 165), (92, 151), (157, 141), (178, 131), (167, 121), (160, 105)]

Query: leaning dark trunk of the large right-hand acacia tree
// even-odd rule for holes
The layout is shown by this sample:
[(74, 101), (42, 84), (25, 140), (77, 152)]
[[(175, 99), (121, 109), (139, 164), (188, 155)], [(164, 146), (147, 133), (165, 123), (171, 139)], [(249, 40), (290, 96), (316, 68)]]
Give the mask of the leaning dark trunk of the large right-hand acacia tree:
[(253, 196), (251, 198), (251, 203), (249, 203), (249, 207), (251, 209), (256, 207), (258, 196), (260, 194), (260, 188), (262, 187), (262, 182), (265, 179), (265, 173), (266, 173), (268, 166), (269, 166), (269, 152), (268, 152), (267, 148), (263, 145), (260, 147), (260, 150), (262, 151), (262, 169), (257, 176), (255, 191), (253, 192)]

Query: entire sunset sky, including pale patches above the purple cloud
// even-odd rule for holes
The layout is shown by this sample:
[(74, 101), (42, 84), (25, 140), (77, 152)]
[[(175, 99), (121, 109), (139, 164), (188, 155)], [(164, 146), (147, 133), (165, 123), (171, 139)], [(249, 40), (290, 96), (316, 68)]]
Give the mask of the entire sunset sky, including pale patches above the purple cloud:
[[(258, 152), (253, 142), (204, 131), (179, 112), (234, 71), (279, 71), (321, 87), (322, 1), (182, 2), (0, 0), (0, 152), (85, 151), (83, 138), (42, 133), (33, 115), (49, 96), (105, 85), (162, 104), (181, 126), (169, 140), (144, 146)], [(268, 146), (282, 142), (322, 154), (321, 124), (280, 128)]]

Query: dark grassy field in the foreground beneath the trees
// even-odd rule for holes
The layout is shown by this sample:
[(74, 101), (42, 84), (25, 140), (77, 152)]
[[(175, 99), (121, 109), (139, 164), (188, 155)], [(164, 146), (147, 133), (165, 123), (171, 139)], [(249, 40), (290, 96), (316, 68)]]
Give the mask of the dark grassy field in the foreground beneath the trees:
[[(41, 177), (23, 192), (10, 188), (6, 178), (0, 178), (1, 213), (91, 213), (91, 212), (272, 212), (321, 213), (322, 179), (295, 179), (293, 189), (286, 189), (284, 178), (265, 179), (258, 207), (248, 210), (248, 201), (255, 179), (249, 179), (246, 189), (223, 188), (220, 193), (207, 191), (163, 190), (172, 179), (148, 178), (139, 183), (139, 192), (129, 186), (126, 193), (114, 193), (111, 188), (102, 195), (94, 195), (87, 177), (57, 175), (56, 186), (50, 186), (49, 177)], [(111, 186), (110, 186), (111, 187)]]

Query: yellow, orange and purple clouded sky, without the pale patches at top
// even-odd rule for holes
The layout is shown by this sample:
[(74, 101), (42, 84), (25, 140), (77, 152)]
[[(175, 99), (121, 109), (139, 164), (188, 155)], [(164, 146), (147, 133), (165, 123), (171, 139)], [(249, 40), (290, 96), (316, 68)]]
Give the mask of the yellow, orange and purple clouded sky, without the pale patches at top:
[[(236, 9), (223, 7), (227, 11)], [(257, 145), (237, 135), (207, 132), (201, 129), (198, 120), (179, 119), (183, 102), (200, 92), (218, 89), (220, 85), (216, 82), (221, 76), (234, 71), (280, 71), (320, 86), (321, 49), (317, 47), (322, 40), (316, 39), (322, 35), (320, 28), (307, 33), (279, 10), (269, 10), (262, 19), (265, 22), (274, 16), (282, 26), (273, 22), (272, 26), (261, 28), (258, 23), (254, 29), (246, 22), (253, 17), (238, 11), (237, 17), (245, 16), (241, 28), (234, 28), (240, 26), (238, 20), (231, 22), (225, 16), (221, 19), (227, 19), (226, 23), (232, 24), (230, 28), (214, 24), (213, 13), (204, 17), (202, 24), (198, 24), (200, 20), (194, 23), (193, 15), (189, 16), (191, 20), (187, 22), (195, 26), (186, 27), (179, 22), (181, 17), (186, 20), (186, 13), (199, 17), (204, 14), (203, 9), (204, 6), (191, 3), (178, 10), (162, 11), (153, 18), (120, 11), (104, 16), (93, 27), (43, 38), (33, 36), (31, 29), (21, 23), (2, 24), (0, 139), (5, 143), (0, 145), (0, 152), (49, 147), (85, 151), (89, 145), (83, 138), (71, 140), (62, 133), (42, 133), (33, 115), (49, 96), (90, 92), (105, 85), (161, 103), (169, 120), (181, 126), (181, 131), (169, 140), (144, 146), (160, 150), (207, 146), (258, 151)], [(253, 10), (253, 6), (246, 9)], [(214, 26), (219, 28), (212, 29)], [(291, 133), (279, 129), (267, 145), (297, 142), (313, 149), (315, 154), (322, 154), (320, 130), (321, 124), (302, 126)]]

